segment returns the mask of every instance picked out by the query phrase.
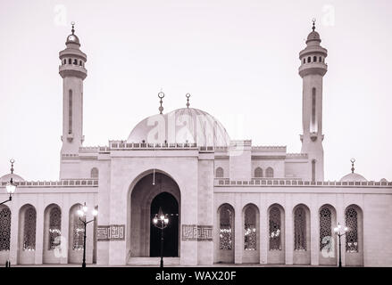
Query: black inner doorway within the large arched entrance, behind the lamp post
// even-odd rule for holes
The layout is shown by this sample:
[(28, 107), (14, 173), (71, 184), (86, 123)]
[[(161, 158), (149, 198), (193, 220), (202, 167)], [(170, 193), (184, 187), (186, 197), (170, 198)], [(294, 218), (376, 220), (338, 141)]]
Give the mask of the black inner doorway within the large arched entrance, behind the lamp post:
[(161, 230), (152, 223), (155, 214), (162, 208), (168, 214), (169, 224), (163, 230), (163, 256), (179, 256), (179, 203), (168, 192), (155, 196), (151, 202), (150, 212), (150, 256), (161, 256)]

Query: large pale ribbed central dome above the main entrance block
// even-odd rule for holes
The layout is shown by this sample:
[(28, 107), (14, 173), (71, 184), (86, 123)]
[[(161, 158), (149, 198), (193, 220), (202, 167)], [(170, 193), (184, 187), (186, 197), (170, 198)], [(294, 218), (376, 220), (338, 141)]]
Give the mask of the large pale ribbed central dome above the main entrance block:
[(128, 142), (229, 146), (230, 138), (221, 123), (207, 112), (181, 108), (145, 118), (130, 132)]

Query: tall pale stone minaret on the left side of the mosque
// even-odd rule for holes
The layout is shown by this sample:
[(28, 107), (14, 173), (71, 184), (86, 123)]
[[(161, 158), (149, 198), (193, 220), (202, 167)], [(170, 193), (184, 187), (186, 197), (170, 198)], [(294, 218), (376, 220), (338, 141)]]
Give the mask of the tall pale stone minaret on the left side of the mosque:
[(87, 56), (81, 52), (79, 38), (72, 22), (67, 46), (60, 52), (62, 64), (59, 73), (63, 77), (63, 147), (62, 154), (76, 154), (84, 141), (83, 135), (83, 80), (87, 77)]

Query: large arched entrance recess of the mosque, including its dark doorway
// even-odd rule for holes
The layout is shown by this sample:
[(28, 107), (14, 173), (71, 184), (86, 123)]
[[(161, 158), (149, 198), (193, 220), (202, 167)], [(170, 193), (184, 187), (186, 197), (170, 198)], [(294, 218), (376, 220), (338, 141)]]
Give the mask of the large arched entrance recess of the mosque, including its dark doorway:
[(161, 256), (161, 232), (152, 224), (159, 208), (169, 214), (164, 229), (164, 256), (179, 256), (181, 198), (179, 185), (169, 176), (155, 172), (142, 177), (130, 193), (128, 256)]

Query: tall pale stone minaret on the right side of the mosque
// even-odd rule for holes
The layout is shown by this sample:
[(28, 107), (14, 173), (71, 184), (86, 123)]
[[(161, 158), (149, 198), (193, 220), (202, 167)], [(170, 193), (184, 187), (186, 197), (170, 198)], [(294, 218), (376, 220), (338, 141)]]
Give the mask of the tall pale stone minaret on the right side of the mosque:
[(299, 53), (301, 66), (299, 75), (303, 79), (302, 121), (304, 134), (301, 134), (302, 153), (309, 157), (309, 172), (306, 178), (313, 181), (324, 180), (324, 151), (322, 149), (322, 77), (327, 72), (327, 50), (321, 47), (321, 39), (313, 31), (306, 40), (306, 47)]

